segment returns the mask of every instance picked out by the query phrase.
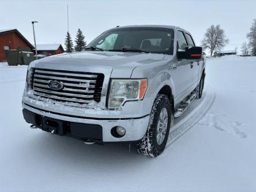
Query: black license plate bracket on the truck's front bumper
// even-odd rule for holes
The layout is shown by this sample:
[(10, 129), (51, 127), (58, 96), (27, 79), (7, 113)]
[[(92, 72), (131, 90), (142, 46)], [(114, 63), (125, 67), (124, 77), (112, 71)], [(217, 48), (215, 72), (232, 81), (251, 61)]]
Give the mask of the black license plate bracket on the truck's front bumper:
[(54, 134), (58, 135), (65, 134), (63, 121), (48, 118), (47, 116), (42, 116), (42, 130), (50, 133), (54, 130)]

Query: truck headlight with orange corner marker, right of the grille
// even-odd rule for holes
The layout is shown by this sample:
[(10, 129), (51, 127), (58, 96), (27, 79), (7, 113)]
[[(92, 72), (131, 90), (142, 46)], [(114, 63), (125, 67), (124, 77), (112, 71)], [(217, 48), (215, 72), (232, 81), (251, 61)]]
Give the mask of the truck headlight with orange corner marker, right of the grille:
[(119, 108), (125, 101), (143, 99), (148, 80), (111, 80), (108, 108)]

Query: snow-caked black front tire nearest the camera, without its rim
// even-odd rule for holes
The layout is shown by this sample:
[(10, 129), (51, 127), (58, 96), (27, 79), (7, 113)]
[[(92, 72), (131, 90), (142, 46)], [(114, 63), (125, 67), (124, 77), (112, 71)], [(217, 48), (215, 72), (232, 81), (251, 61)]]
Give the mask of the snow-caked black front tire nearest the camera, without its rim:
[[(167, 113), (164, 108), (166, 109)], [(163, 137), (164, 140), (162, 138), (163, 141), (159, 145), (157, 143), (157, 125), (159, 123), (160, 113), (162, 110), (165, 112), (165, 115), (168, 114), (168, 123), (167, 129), (165, 129), (165, 136)], [(136, 145), (138, 153), (148, 157), (157, 157), (158, 155), (160, 155), (163, 152), (167, 143), (170, 126), (173, 125), (173, 122), (174, 114), (171, 110), (170, 100), (166, 95), (157, 95), (152, 110), (150, 112), (148, 130), (146, 131), (144, 137), (140, 141), (138, 141)]]

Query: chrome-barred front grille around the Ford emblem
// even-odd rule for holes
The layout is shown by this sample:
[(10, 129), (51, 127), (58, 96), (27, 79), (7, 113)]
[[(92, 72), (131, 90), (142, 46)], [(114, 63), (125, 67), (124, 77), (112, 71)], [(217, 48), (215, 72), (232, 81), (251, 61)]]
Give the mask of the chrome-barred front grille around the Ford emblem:
[[(50, 80), (62, 82), (63, 89), (48, 87)], [(104, 74), (78, 71), (35, 69), (33, 73), (33, 95), (79, 104), (99, 102)], [(70, 105), (70, 104), (69, 104)]]

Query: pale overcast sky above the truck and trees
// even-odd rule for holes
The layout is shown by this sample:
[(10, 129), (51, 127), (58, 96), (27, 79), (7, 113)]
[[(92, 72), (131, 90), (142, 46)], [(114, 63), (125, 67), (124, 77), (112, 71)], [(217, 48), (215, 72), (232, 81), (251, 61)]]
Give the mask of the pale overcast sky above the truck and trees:
[(229, 39), (224, 50), (240, 50), (256, 18), (256, 0), (0, 0), (0, 30), (16, 28), (33, 44), (31, 21), (38, 21), (36, 43), (64, 47), (67, 5), (72, 39), (80, 28), (87, 43), (117, 25), (164, 24), (186, 29), (199, 46), (206, 29), (220, 24)]

